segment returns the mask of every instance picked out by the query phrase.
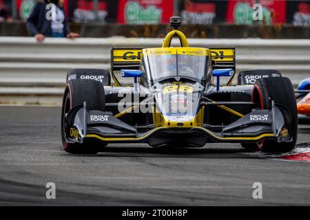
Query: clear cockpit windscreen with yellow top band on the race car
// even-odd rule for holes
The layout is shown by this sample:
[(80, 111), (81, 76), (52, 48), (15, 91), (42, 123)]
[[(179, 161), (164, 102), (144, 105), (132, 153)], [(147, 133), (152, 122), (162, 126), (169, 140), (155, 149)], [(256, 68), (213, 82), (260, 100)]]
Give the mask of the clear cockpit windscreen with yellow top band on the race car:
[(207, 78), (209, 57), (209, 50), (198, 47), (144, 49), (143, 74), (153, 83), (168, 78), (187, 78), (201, 83)]

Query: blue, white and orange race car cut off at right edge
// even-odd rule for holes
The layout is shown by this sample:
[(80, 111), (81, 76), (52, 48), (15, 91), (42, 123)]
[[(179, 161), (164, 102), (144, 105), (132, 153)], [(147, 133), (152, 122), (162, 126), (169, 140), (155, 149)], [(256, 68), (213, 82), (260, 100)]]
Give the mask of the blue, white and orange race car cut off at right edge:
[(310, 78), (299, 83), (296, 94), (296, 98), (300, 99), (297, 103), (298, 123), (310, 124)]

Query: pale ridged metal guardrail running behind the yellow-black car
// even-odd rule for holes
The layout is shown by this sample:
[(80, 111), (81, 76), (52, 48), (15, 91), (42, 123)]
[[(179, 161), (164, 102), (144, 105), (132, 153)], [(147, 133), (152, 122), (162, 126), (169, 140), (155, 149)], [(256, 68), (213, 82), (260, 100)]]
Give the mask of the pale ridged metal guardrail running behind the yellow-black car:
[[(291, 78), (294, 85), (310, 76), (310, 40), (188, 41), (194, 47), (236, 47), (237, 72), (278, 69), (283, 76)], [(45, 39), (43, 43), (37, 43), (30, 37), (0, 37), (0, 94), (6, 97), (5, 100), (10, 100), (7, 96), (60, 97), (68, 69), (110, 69), (112, 47), (158, 47), (162, 43), (163, 39), (118, 36), (109, 39)], [(178, 41), (173, 41), (172, 45), (178, 45)]]

